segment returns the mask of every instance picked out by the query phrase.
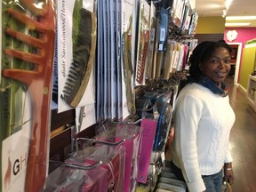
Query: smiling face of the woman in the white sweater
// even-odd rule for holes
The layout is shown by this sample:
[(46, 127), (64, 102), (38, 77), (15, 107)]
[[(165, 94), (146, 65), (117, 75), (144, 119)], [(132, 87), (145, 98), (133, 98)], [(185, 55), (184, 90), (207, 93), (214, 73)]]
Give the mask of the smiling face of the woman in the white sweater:
[(220, 85), (230, 70), (230, 55), (226, 48), (219, 47), (213, 52), (212, 57), (199, 66), (204, 76)]

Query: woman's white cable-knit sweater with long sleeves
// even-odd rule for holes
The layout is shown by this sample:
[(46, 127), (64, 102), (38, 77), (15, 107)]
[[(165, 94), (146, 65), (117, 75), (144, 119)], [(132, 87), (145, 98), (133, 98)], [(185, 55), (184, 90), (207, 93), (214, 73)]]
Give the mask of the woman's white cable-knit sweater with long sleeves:
[(172, 161), (182, 170), (190, 192), (204, 191), (201, 175), (220, 172), (232, 161), (229, 132), (235, 113), (228, 96), (214, 94), (200, 84), (187, 84), (174, 106)]

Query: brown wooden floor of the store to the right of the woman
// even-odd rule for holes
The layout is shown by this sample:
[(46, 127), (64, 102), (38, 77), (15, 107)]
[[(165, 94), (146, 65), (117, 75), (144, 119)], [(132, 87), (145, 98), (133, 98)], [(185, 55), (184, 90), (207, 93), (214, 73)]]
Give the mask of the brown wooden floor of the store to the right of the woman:
[(233, 192), (256, 192), (256, 113), (249, 106), (244, 92), (228, 76), (226, 83), (236, 122), (230, 135), (235, 182)]

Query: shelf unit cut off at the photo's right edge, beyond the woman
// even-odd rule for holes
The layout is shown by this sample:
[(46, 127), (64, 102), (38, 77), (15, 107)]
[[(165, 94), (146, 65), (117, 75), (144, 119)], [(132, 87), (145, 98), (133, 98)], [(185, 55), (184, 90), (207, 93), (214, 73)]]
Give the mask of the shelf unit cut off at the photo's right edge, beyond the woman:
[(256, 76), (249, 76), (247, 99), (249, 100), (250, 106), (256, 112)]

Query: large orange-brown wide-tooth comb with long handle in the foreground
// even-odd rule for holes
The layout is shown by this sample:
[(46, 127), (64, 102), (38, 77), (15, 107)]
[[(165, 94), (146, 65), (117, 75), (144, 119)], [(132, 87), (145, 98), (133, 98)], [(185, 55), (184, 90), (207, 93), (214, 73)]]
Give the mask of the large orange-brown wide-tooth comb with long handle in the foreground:
[(26, 192), (36, 192), (44, 185), (48, 154), (49, 116), (52, 89), (52, 64), (55, 43), (55, 12), (52, 1), (45, 1), (42, 8), (36, 8), (33, 0), (22, 0), (38, 19), (13, 9), (7, 10), (12, 17), (38, 33), (38, 38), (7, 28), (6, 32), (23, 43), (36, 48), (36, 53), (6, 49), (5, 53), (14, 58), (34, 64), (33, 70), (4, 68), (3, 75), (25, 84), (31, 97), (32, 132), (28, 149), (28, 164), (25, 181)]

